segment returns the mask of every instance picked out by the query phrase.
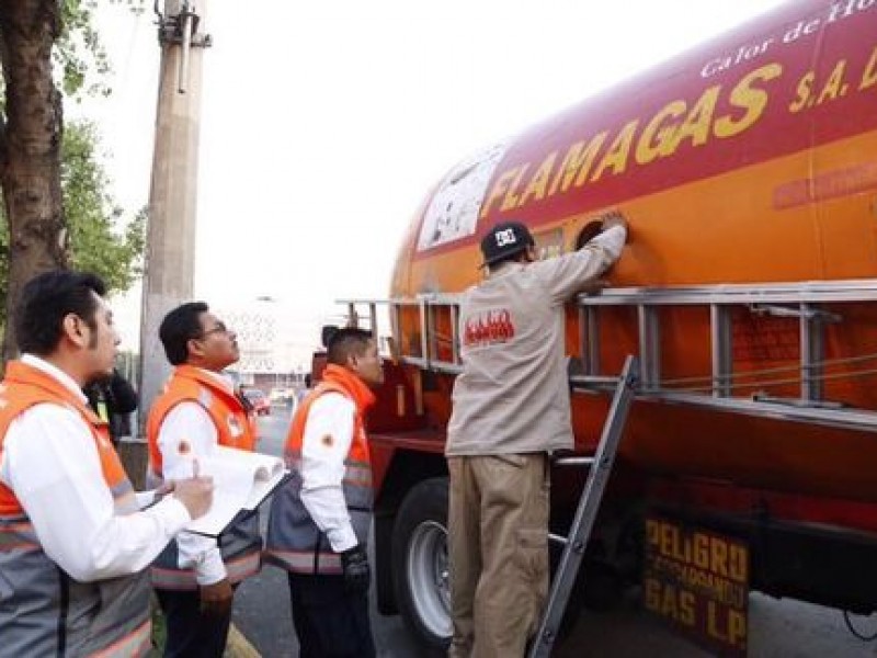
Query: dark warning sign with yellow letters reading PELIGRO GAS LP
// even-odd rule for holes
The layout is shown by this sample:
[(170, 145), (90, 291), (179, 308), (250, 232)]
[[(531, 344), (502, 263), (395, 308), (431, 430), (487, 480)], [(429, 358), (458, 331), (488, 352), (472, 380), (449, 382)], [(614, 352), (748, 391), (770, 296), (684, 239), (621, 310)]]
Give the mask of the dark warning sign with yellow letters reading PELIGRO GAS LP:
[(747, 655), (749, 548), (736, 538), (646, 520), (642, 597), (668, 620), (720, 656)]

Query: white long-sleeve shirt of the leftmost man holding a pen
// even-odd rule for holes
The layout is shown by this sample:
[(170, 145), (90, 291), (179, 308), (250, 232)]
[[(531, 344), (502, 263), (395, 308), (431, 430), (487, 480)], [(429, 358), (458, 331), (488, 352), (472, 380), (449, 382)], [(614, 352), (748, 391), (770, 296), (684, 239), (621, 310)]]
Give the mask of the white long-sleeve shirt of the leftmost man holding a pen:
[[(22, 362), (86, 401), (77, 383), (55, 365), (30, 354)], [(91, 429), (78, 411), (56, 404), (35, 405), (10, 423), (0, 480), (15, 494), (46, 555), (83, 582), (145, 569), (191, 521), (172, 496), (148, 510), (116, 515)]]

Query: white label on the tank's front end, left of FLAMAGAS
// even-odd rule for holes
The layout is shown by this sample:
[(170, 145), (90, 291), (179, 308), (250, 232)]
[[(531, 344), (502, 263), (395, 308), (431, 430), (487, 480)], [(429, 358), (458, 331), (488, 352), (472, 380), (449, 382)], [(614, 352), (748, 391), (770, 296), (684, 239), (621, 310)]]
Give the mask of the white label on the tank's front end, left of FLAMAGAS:
[(505, 154), (498, 144), (451, 170), (430, 201), (420, 227), (418, 251), (466, 238), (475, 232), (487, 185)]

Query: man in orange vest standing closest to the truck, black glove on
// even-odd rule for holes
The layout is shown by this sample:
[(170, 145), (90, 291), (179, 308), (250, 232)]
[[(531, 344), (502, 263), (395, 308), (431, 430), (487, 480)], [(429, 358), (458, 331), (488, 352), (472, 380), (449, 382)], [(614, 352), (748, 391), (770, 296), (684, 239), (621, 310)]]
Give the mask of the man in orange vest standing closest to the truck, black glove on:
[(288, 571), (300, 658), (369, 658), (373, 490), (364, 415), (384, 370), (368, 331), (339, 329), (327, 343), (322, 379), (286, 440), (292, 478), (271, 504), (265, 559)]

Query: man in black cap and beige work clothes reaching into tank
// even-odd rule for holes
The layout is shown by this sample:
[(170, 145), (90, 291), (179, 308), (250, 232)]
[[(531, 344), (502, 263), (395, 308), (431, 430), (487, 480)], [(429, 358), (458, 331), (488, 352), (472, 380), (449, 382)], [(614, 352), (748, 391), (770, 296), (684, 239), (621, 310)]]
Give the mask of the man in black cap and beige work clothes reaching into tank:
[(563, 304), (620, 256), (618, 214), (582, 249), (536, 261), (521, 223), (481, 240), (486, 280), (463, 296), (463, 372), (448, 423), (451, 658), (523, 656), (548, 590), (549, 463), (571, 450)]

